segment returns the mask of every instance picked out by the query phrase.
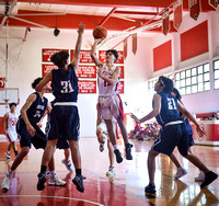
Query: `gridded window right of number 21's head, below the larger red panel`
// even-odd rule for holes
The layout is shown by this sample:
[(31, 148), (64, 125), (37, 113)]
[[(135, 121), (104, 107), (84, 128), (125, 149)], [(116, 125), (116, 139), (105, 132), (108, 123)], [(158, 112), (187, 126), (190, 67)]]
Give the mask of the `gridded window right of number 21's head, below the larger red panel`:
[[(218, 61), (219, 76), (219, 61)], [(209, 64), (186, 69), (175, 73), (175, 87), (182, 95), (210, 90), (210, 68)], [(218, 77), (219, 88), (219, 77)]]

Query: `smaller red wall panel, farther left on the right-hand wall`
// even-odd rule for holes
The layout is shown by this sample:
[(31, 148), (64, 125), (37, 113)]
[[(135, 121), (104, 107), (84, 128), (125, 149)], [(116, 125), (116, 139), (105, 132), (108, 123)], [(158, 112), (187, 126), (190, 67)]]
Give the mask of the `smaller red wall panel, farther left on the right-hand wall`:
[(172, 41), (153, 48), (153, 71), (172, 66)]

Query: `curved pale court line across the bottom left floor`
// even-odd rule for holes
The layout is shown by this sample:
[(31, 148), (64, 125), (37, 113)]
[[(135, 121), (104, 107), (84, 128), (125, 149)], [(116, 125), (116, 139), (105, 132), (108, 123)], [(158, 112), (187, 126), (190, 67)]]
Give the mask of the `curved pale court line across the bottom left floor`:
[(93, 205), (99, 205), (99, 206), (104, 206), (100, 203), (95, 203), (92, 201), (87, 201), (87, 199), (82, 199), (82, 198), (73, 198), (73, 197), (64, 197), (64, 196), (47, 196), (47, 195), (0, 195), (0, 197), (44, 197), (44, 198), (62, 198), (62, 199), (71, 199), (71, 201), (82, 201), (85, 203), (91, 203)]

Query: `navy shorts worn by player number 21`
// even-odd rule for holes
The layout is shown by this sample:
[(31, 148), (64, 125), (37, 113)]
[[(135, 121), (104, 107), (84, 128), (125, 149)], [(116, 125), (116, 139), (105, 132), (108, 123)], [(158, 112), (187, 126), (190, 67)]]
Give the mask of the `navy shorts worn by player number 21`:
[(183, 156), (187, 156), (187, 130), (184, 124), (164, 126), (154, 141), (152, 149), (170, 156), (176, 146)]

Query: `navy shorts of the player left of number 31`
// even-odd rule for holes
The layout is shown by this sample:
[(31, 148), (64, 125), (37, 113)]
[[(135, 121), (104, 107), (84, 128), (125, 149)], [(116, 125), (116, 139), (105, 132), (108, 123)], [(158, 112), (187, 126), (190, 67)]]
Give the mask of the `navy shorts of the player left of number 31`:
[(26, 129), (26, 124), (23, 119), (19, 119), (16, 124), (16, 133), (20, 136), (20, 145), (21, 148), (23, 147), (30, 147), (33, 146), (36, 149), (45, 149), (46, 148), (46, 135), (41, 130), (41, 128), (37, 125), (32, 125), (35, 128), (35, 136), (32, 137), (30, 133)]

